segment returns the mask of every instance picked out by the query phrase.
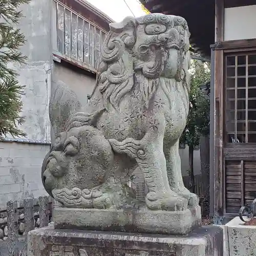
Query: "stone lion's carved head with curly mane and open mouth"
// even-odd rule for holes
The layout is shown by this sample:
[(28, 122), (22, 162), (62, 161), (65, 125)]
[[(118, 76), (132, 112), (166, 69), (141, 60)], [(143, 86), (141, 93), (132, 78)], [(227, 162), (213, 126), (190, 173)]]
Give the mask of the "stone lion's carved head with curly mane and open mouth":
[(116, 108), (133, 88), (134, 74), (174, 78), (189, 90), (189, 35), (184, 18), (159, 13), (110, 24), (97, 78), (104, 103)]

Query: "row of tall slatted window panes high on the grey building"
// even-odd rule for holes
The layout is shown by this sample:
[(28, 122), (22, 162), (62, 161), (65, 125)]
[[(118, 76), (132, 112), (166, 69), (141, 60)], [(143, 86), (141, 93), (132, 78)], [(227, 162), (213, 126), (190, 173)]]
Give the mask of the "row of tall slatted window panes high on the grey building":
[(106, 32), (59, 2), (56, 5), (57, 51), (97, 68)]

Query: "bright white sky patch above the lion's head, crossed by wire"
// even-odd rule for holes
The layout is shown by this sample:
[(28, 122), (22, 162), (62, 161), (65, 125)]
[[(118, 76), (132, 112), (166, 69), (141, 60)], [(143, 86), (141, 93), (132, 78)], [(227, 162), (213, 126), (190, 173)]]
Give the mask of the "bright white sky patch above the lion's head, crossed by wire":
[(136, 17), (145, 15), (140, 7), (139, 0), (126, 0), (132, 12), (126, 6), (124, 0), (87, 0), (90, 4), (111, 17), (115, 22), (121, 22), (126, 16)]

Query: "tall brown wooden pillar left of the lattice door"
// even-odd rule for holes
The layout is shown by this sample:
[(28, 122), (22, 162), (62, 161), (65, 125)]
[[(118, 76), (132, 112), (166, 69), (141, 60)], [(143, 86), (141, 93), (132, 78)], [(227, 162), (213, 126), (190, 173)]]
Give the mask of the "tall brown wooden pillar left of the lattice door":
[[(215, 42), (224, 40), (224, 0), (215, 0)], [(223, 216), (223, 50), (214, 67), (214, 216)]]

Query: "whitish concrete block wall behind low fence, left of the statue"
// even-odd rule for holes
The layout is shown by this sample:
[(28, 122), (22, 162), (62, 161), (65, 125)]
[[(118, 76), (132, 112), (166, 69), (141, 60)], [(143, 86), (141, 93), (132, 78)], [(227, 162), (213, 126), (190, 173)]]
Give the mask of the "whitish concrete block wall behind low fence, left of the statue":
[(0, 210), (9, 200), (47, 195), (41, 182), (41, 164), (50, 145), (0, 142)]

